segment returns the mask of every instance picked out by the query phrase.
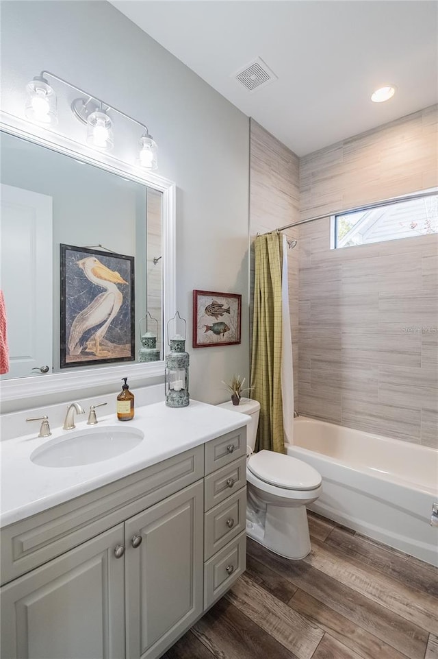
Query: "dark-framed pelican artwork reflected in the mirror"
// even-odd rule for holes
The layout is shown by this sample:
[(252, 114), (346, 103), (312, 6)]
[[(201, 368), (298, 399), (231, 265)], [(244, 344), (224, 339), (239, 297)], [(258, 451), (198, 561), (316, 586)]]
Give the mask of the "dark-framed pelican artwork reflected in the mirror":
[(134, 361), (134, 257), (63, 244), (60, 251), (61, 368)]

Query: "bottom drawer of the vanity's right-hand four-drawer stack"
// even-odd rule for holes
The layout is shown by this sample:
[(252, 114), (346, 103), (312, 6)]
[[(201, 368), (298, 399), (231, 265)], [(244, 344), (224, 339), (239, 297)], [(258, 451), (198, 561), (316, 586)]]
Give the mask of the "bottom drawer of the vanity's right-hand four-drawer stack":
[(246, 531), (232, 540), (204, 566), (204, 610), (227, 592), (246, 568)]

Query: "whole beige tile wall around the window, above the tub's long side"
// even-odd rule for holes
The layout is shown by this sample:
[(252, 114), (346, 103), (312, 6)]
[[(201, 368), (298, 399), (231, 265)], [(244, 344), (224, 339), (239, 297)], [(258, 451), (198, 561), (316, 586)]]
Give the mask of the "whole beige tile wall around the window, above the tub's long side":
[[(300, 159), (301, 218), (438, 184), (437, 107)], [(301, 414), (438, 447), (438, 237), (330, 250), (300, 227)]]

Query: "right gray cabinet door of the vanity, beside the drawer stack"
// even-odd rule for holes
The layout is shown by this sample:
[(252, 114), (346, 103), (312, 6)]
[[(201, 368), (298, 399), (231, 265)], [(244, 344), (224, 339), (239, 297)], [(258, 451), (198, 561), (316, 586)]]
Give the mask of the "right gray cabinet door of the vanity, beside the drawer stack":
[(203, 481), (132, 517), (125, 537), (127, 657), (155, 659), (203, 610)]

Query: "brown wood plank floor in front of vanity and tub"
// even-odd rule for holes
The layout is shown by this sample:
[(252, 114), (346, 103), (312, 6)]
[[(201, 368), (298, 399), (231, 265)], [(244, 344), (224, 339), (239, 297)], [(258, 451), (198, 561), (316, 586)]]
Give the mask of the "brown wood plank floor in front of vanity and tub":
[(438, 659), (438, 569), (309, 513), (312, 550), (246, 573), (163, 659)]

